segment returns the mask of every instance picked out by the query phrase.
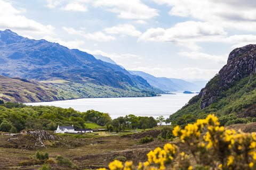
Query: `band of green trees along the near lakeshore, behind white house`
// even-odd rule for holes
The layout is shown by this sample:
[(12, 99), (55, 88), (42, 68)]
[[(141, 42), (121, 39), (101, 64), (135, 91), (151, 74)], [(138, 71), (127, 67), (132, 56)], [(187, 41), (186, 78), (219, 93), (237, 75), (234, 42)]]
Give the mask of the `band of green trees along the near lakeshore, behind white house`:
[(94, 110), (86, 112), (75, 111), (73, 108), (55, 106), (27, 106), (18, 103), (5, 103), (0, 105), (0, 131), (19, 132), (26, 128), (44, 129), (54, 131), (60, 126), (86, 128), (85, 122), (94, 122), (102, 126), (112, 125), (114, 128), (122, 126), (123, 129), (153, 128), (157, 123), (163, 123), (163, 116), (126, 115), (111, 119), (108, 113)]

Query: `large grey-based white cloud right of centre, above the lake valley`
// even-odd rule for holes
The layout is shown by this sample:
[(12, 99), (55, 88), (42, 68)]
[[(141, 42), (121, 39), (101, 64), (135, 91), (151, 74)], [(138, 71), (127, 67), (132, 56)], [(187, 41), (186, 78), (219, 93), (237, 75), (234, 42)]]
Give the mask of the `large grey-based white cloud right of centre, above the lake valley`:
[(187, 21), (174, 25), (169, 29), (150, 28), (142, 33), (138, 41), (162, 41), (186, 46), (191, 50), (199, 50), (197, 41), (209, 41), (225, 37), (227, 33), (219, 25), (209, 22)]

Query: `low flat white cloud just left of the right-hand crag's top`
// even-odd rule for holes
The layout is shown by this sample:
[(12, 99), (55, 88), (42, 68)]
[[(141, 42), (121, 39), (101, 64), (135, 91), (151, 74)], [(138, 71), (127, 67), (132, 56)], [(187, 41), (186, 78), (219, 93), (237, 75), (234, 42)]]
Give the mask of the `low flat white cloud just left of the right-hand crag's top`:
[(210, 55), (199, 52), (180, 52), (178, 53), (180, 56), (185, 56), (189, 58), (193, 58), (195, 60), (212, 60), (214, 63), (225, 64), (228, 60), (228, 54), (225, 55)]

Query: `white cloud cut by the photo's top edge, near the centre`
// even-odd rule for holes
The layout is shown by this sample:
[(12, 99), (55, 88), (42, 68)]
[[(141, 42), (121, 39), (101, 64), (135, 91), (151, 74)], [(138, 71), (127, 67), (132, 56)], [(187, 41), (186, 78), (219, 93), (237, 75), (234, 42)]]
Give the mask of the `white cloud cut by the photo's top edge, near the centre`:
[(149, 8), (141, 3), (140, 0), (97, 0), (94, 1), (95, 6), (108, 7), (107, 10), (114, 13), (119, 13), (119, 18), (125, 19), (151, 19), (158, 16), (158, 11), (154, 8)]

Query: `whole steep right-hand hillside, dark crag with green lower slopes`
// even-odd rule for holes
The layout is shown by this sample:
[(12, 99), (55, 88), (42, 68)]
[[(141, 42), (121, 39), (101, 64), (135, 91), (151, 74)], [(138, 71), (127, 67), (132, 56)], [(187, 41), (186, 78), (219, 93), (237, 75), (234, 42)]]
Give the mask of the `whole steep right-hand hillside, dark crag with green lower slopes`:
[(215, 114), (221, 125), (251, 122), (256, 117), (255, 69), (256, 45), (234, 49), (219, 74), (186, 106), (170, 115), (170, 119), (177, 121), (191, 115), (187, 120), (185, 118), (189, 123), (207, 114)]

